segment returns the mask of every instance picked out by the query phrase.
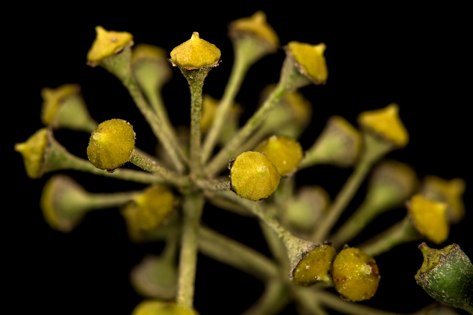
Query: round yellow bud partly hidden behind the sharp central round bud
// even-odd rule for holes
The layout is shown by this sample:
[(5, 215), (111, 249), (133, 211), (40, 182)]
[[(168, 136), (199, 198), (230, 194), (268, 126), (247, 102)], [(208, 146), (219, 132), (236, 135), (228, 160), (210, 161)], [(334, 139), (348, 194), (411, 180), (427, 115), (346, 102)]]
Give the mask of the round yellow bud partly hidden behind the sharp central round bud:
[(302, 161), (302, 146), (287, 136), (270, 136), (254, 148), (276, 166), (279, 175), (286, 176), (297, 169)]

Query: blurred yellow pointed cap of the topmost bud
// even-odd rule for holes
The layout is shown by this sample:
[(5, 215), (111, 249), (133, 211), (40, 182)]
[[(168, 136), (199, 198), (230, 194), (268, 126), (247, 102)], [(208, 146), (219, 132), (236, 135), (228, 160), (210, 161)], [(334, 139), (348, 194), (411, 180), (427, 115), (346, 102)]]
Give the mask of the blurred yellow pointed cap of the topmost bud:
[(256, 11), (251, 17), (242, 17), (229, 23), (232, 36), (250, 34), (261, 38), (276, 49), (279, 46), (278, 34), (271, 25), (266, 22), (266, 13)]

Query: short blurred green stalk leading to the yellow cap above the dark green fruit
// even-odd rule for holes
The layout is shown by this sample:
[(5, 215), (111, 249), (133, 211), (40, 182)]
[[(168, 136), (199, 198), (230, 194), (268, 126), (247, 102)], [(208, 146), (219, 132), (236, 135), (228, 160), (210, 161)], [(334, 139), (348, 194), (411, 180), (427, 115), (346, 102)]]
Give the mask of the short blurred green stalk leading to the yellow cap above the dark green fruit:
[(358, 248), (368, 255), (378, 256), (400, 244), (421, 238), (422, 235), (412, 225), (411, 219), (406, 216), (402, 221), (397, 222), (389, 229), (360, 244)]

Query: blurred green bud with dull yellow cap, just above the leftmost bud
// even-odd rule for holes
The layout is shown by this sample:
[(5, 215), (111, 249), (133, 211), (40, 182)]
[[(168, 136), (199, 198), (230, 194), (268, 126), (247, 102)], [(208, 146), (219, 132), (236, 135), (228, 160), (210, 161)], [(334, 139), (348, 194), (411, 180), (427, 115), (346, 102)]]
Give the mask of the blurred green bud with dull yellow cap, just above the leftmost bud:
[(80, 95), (78, 84), (65, 84), (55, 89), (44, 87), (41, 96), (41, 121), (45, 126), (86, 132), (97, 127), (97, 122), (90, 117), (87, 105)]

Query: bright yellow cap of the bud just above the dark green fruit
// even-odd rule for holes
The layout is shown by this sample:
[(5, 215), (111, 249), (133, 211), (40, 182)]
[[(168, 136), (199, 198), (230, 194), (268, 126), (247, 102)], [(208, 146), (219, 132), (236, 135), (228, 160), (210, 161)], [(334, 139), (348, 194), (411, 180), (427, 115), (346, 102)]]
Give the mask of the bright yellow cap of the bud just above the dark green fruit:
[(417, 194), (412, 196), (407, 208), (414, 226), (422, 235), (435, 244), (447, 240), (450, 230), (446, 216), (447, 204)]

